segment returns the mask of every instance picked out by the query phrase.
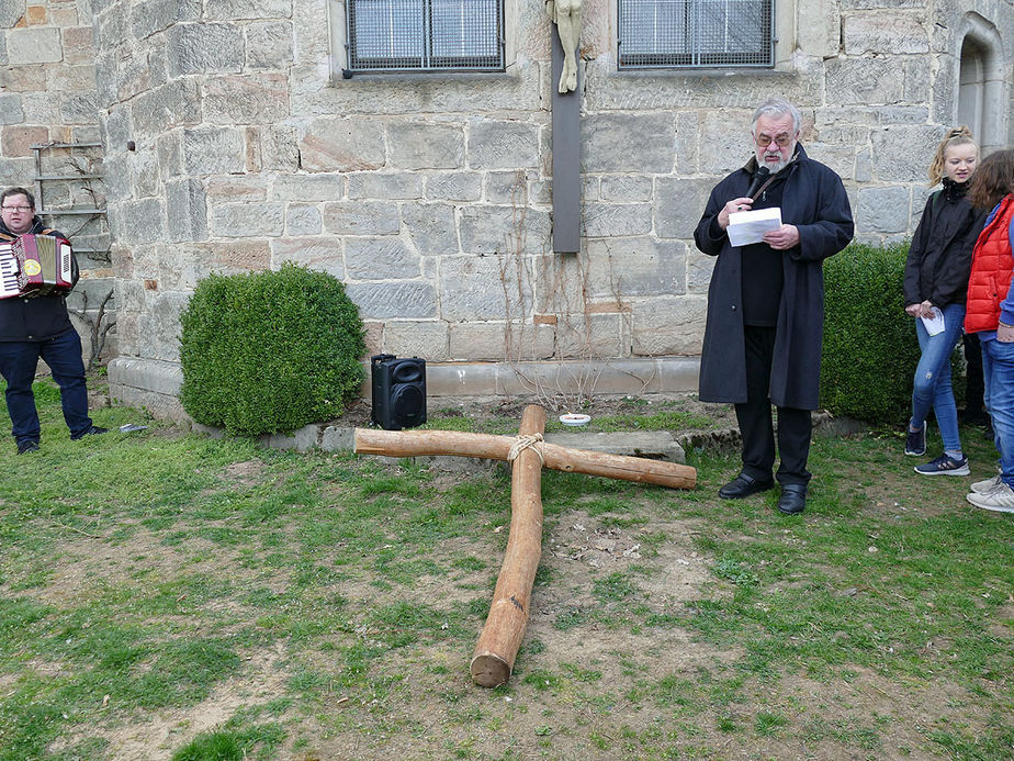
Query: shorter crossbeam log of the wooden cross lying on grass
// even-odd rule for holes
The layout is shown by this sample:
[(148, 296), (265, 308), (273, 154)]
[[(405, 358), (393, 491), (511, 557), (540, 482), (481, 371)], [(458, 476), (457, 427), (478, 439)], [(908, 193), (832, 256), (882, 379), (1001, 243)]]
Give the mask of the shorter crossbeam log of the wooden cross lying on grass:
[[(356, 428), (353, 446), (360, 455), (386, 455), (387, 457), (451, 455), (506, 460), (515, 440), (514, 436), (470, 434), (458, 430)], [(654, 483), (669, 489), (694, 489), (697, 485), (697, 470), (678, 462), (585, 451), (554, 444), (543, 444), (542, 456), (545, 458), (545, 467), (550, 470)]]

